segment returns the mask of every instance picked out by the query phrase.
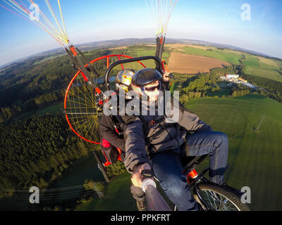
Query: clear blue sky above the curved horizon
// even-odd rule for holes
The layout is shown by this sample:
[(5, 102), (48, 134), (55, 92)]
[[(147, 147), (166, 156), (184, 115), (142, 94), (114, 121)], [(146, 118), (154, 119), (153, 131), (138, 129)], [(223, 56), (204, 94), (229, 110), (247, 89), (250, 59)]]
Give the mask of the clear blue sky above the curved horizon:
[[(56, 8), (57, 1), (49, 1)], [(47, 12), (43, 0), (35, 3)], [(243, 4), (250, 5), (251, 20), (242, 20)], [(156, 33), (145, 0), (61, 0), (61, 7), (73, 44)], [(282, 58), (281, 11), (281, 0), (178, 0), (167, 37), (231, 44)], [(0, 34), (0, 65), (59, 47), (47, 32), (1, 7)]]

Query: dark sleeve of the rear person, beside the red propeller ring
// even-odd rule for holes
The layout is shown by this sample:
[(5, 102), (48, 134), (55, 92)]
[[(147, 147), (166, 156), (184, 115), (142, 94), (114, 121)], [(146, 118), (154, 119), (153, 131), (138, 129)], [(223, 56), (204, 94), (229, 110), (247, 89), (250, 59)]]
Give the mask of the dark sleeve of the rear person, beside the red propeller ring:
[(125, 151), (125, 141), (123, 137), (119, 136), (115, 131), (111, 122), (111, 117), (102, 115), (99, 124), (102, 138), (106, 139), (106, 141), (109, 141), (109, 143), (116, 148), (120, 148), (121, 150)]

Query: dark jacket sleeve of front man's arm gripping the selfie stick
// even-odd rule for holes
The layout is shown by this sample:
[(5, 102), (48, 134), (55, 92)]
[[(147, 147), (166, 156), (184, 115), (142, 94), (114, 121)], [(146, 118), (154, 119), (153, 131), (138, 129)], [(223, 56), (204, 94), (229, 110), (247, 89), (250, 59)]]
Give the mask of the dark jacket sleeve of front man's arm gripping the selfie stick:
[(133, 173), (137, 165), (149, 163), (145, 148), (143, 124), (140, 118), (124, 116), (125, 158), (124, 165), (128, 172)]

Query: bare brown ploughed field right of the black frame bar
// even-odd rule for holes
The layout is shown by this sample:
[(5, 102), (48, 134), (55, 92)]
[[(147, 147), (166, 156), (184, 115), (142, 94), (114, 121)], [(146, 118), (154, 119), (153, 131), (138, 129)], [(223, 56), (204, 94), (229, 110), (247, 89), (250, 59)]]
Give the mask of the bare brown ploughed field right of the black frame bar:
[(197, 72), (209, 72), (212, 68), (221, 68), (230, 63), (209, 58), (206, 56), (194, 56), (184, 53), (172, 52), (168, 60), (168, 68), (171, 72), (195, 74)]

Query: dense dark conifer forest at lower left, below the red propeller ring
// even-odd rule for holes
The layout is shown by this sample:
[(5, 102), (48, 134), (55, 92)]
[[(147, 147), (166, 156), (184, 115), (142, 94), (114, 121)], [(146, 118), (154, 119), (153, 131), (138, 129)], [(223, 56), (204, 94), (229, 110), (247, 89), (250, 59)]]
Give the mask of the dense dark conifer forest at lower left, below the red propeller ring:
[[(32, 116), (0, 124), (0, 196), (5, 190), (46, 187), (93, 147), (69, 131), (63, 117)], [(97, 146), (99, 147), (99, 146)]]

